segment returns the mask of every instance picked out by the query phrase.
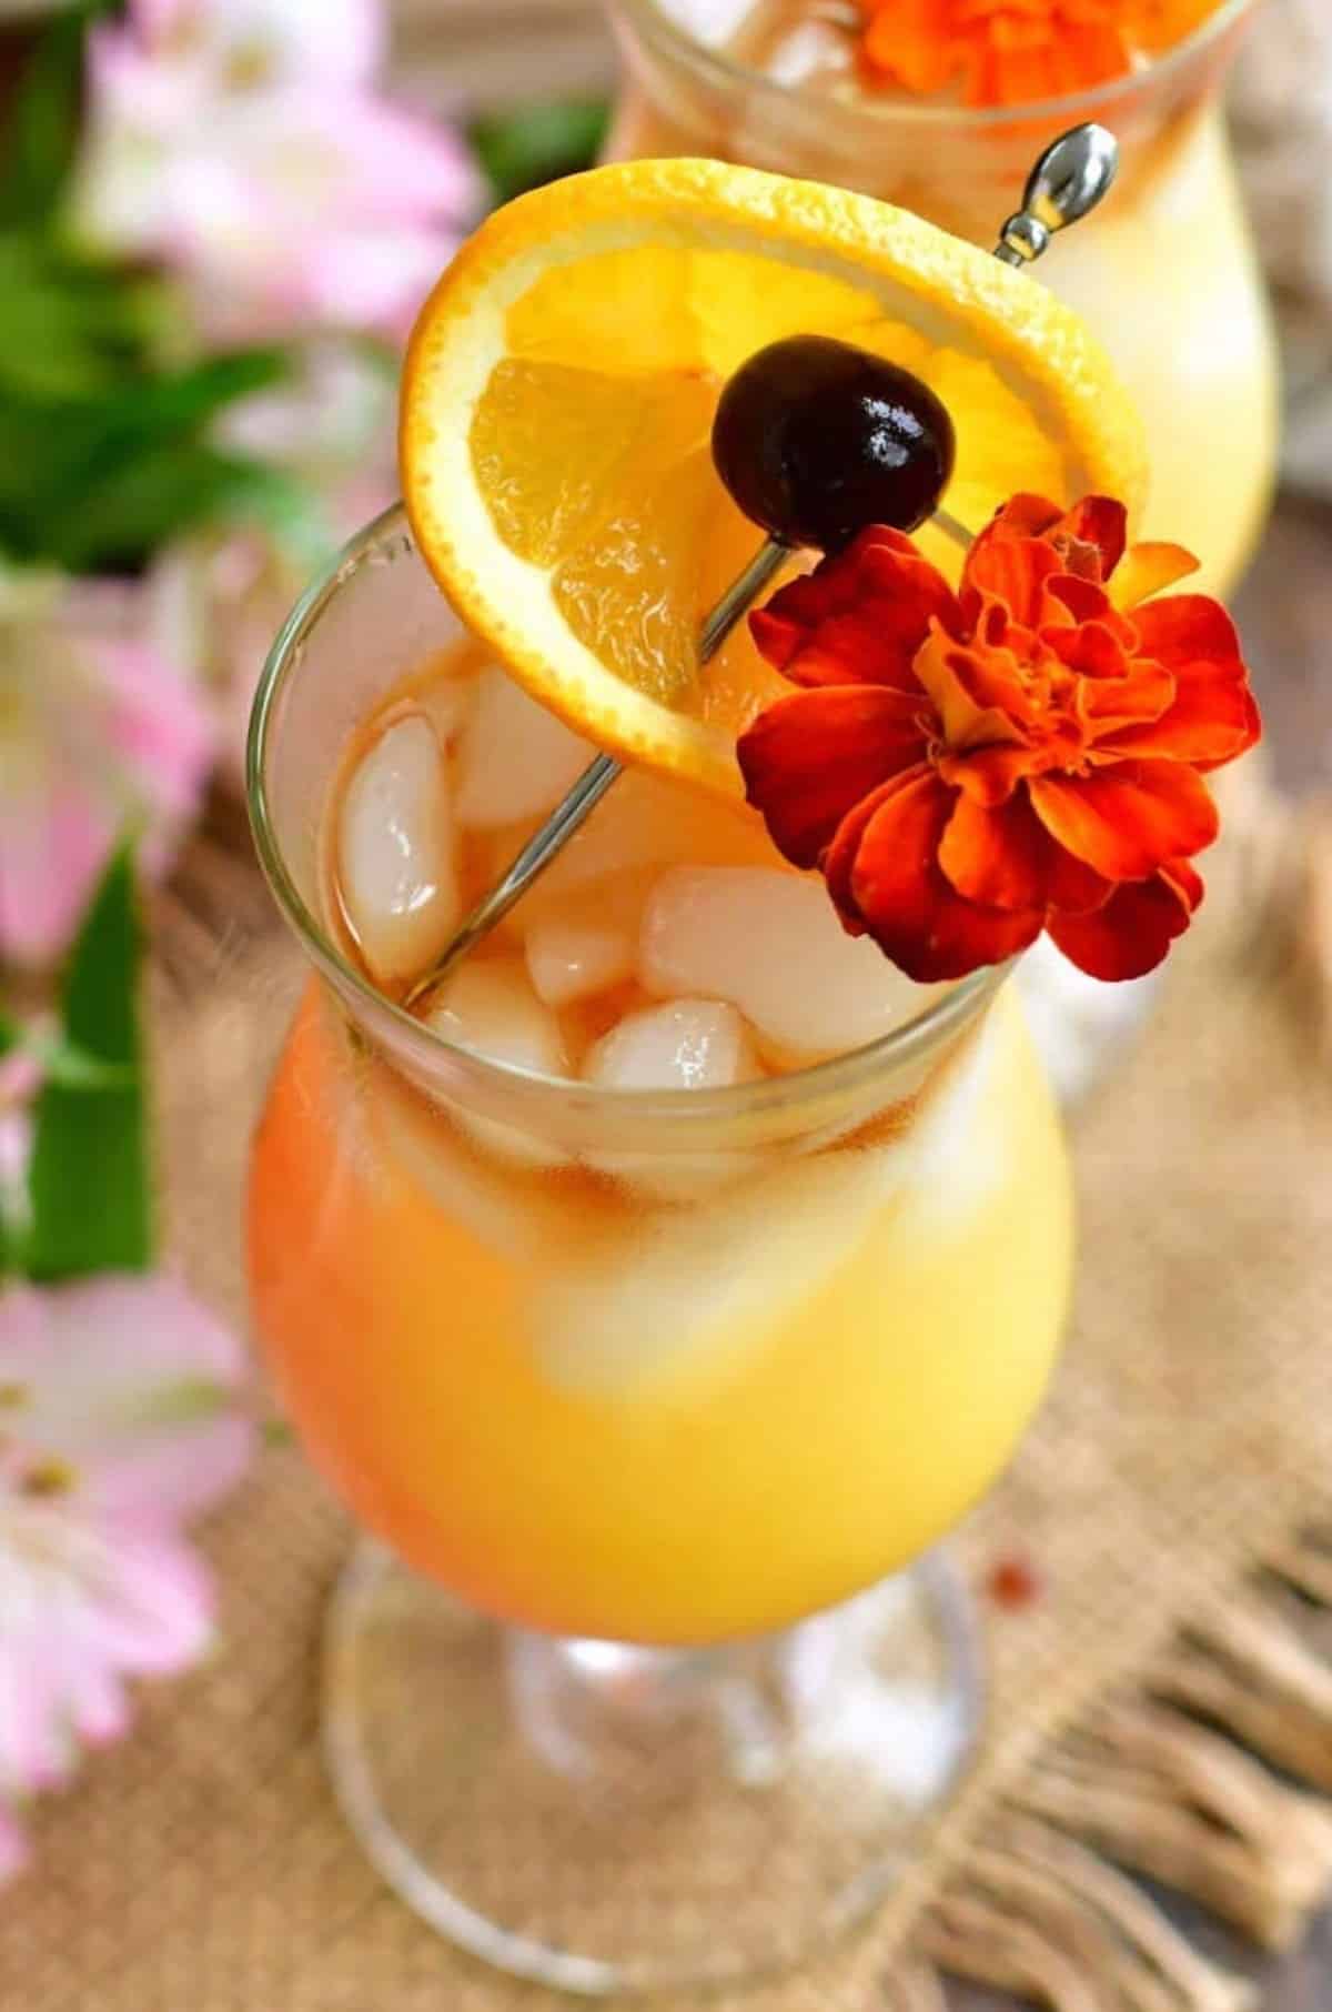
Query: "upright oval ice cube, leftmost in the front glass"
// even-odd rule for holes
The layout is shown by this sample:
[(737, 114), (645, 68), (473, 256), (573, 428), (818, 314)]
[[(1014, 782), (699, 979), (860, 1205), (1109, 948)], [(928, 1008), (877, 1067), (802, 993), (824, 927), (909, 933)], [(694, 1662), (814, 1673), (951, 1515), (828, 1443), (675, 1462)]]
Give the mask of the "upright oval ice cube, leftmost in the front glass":
[(445, 757), (412, 712), (360, 759), (338, 813), (338, 887), (372, 974), (423, 972), (459, 919)]

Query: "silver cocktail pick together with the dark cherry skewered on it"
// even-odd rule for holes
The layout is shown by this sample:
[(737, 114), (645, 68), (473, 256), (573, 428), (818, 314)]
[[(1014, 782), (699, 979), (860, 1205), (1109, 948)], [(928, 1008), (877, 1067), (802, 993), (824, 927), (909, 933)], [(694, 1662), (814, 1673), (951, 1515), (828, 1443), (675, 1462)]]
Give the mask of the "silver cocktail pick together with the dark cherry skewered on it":
[[(1117, 167), (1119, 143), (1105, 127), (1080, 125), (1064, 133), (1032, 167), (1022, 207), (1004, 223), (994, 258), (1006, 266), (1034, 264), (1056, 231), (1091, 215), (1115, 181)], [(801, 386), (811, 384), (811, 372), (813, 394), (803, 425)], [(827, 390), (847, 414), (847, 425), (831, 433), (813, 410), (817, 394)], [(851, 427), (857, 429), (855, 439)], [(769, 453), (755, 453), (755, 447)], [(934, 392), (883, 358), (823, 336), (793, 336), (751, 356), (722, 392), (712, 453), (738, 507), (769, 535), (704, 620), (700, 666), (716, 656), (801, 547), (827, 551), (847, 543), (867, 523), (913, 531), (930, 519), (956, 545), (970, 549), (972, 531), (938, 501), (952, 475), (952, 421)], [(443, 956), (417, 980), (406, 1006), (433, 992), (503, 921), (622, 773), (612, 754), (598, 754), (588, 765), (477, 901)]]

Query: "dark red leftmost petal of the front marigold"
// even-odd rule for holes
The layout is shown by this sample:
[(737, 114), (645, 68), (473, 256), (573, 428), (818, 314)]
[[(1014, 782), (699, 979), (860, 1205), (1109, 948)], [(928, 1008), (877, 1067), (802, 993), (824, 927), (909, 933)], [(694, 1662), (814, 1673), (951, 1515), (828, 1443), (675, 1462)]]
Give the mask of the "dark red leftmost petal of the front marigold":
[(791, 692), (740, 734), (736, 754), (748, 801), (779, 853), (813, 867), (855, 805), (918, 763), (924, 694), (877, 684)]

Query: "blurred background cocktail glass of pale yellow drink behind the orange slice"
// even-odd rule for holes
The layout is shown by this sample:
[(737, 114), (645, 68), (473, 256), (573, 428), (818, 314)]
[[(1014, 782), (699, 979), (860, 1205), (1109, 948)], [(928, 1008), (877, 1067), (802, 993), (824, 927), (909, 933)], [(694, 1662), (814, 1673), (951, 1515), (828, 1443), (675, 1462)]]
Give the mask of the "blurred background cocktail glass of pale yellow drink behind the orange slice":
[[(628, 62), (612, 157), (714, 155), (863, 189), (992, 245), (1038, 151), (1085, 119), (1121, 143), (1101, 211), (1040, 280), (1117, 360), (1153, 441), (1145, 535), (1201, 559), (1225, 596), (1264, 527), (1278, 437), (1268, 304), (1235, 183), (1221, 87), (1254, 0), (1219, 0), (1191, 36), (1123, 80), (1046, 105), (970, 111), (765, 68), (815, 0), (608, 0)], [(755, 20), (771, 24), (759, 30)]]

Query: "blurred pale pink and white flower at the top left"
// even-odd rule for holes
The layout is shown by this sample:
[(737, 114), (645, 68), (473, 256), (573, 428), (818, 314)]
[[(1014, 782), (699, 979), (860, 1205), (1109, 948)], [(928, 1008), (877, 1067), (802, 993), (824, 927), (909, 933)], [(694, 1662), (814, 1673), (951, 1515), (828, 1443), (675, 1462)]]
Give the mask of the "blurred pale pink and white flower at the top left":
[(211, 340), (402, 334), (481, 191), (378, 54), (366, 0), (133, 0), (93, 38), (78, 223), (173, 266)]

